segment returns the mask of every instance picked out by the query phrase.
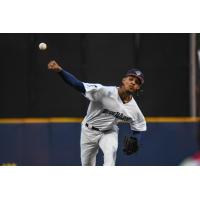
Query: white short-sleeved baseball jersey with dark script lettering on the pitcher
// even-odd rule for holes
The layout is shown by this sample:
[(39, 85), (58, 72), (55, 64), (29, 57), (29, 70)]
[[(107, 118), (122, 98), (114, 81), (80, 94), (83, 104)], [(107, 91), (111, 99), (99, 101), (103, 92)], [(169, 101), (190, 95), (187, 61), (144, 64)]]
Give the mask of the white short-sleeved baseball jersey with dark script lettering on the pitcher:
[(124, 104), (115, 86), (83, 84), (86, 90), (85, 97), (90, 100), (83, 124), (88, 123), (105, 131), (117, 127), (119, 122), (127, 122), (131, 130), (146, 130), (145, 118), (134, 98)]

